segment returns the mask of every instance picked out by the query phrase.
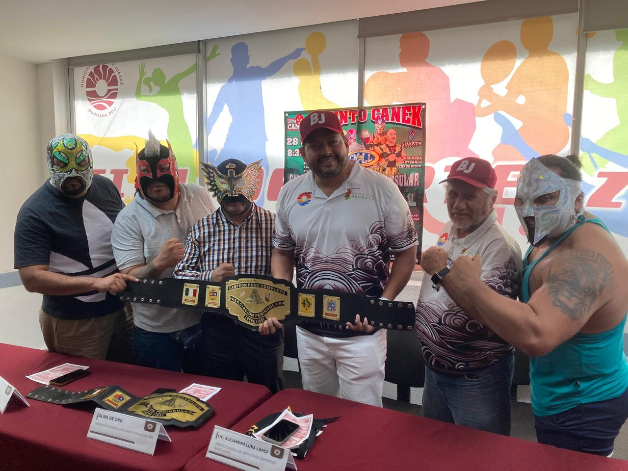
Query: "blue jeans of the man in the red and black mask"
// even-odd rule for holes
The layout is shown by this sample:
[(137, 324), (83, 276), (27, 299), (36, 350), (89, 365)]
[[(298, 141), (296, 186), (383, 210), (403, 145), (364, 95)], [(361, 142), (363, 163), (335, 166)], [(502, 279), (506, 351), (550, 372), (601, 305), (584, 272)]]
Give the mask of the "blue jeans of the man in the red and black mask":
[(141, 366), (178, 372), (183, 368), (183, 344), (176, 341), (176, 332), (148, 332), (136, 325), (133, 344)]

